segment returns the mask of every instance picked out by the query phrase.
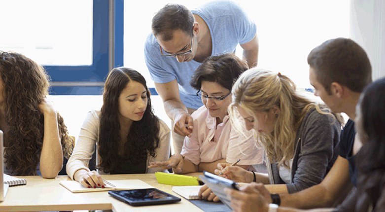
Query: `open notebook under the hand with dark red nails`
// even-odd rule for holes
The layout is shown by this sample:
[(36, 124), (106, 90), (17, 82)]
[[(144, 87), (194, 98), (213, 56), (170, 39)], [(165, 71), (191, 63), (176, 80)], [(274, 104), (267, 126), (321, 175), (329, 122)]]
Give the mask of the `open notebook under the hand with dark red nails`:
[(118, 179), (108, 181), (104, 179), (103, 181), (106, 185), (105, 188), (86, 188), (74, 180), (60, 181), (60, 184), (72, 193), (153, 188), (153, 186), (141, 181), (140, 179)]

